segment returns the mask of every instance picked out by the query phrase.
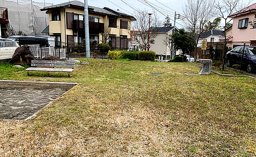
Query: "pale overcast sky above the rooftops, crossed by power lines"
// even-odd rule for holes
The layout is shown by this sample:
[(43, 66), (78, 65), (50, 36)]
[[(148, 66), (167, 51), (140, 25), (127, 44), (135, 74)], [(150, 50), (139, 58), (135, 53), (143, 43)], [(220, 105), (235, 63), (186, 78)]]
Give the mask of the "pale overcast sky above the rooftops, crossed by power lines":
[[(41, 1), (41, 0), (37, 0), (37, 1)], [(54, 0), (54, 1), (53, 0), (45, 0), (46, 3), (53, 3), (53, 4), (65, 3), (67, 1), (68, 0)], [(70, 0), (70, 1), (72, 1), (72, 0)], [(83, 0), (79, 0), (79, 1), (84, 2)], [(110, 1), (112, 3), (110, 3)], [(136, 8), (139, 8), (139, 9), (146, 8), (146, 9), (148, 9), (149, 12), (152, 12), (152, 8), (142, 4), (138, 0), (125, 0), (125, 1), (127, 1), (130, 4), (132, 4)], [(161, 7), (162, 9), (166, 9), (167, 11), (172, 12), (172, 13), (170, 13), (170, 15), (174, 15), (174, 11), (173, 10), (175, 10), (177, 12), (180, 12), (180, 13), (183, 13), (182, 12), (182, 7), (184, 6), (184, 3), (185, 3), (186, 0), (148, 0), (148, 1), (150, 3), (153, 3), (153, 4), (157, 5), (158, 7)], [(162, 3), (162, 4), (164, 4), (164, 5), (166, 5), (169, 8), (172, 8), (173, 10), (165, 7), (164, 5), (158, 3), (157, 1)], [(249, 1), (251, 1), (251, 0), (243, 0), (244, 3), (248, 3)], [(255, 3), (255, 1), (252, 2), (251, 4), (253, 4), (253, 3)], [(134, 12), (134, 10), (131, 7), (129, 7), (127, 4), (125, 4), (121, 0), (88, 0), (88, 4), (91, 5), (91, 6), (100, 7), (100, 8), (108, 7), (108, 8), (113, 8), (113, 9), (120, 9), (120, 11), (122, 11), (124, 13), (127, 13), (127, 14), (131, 14), (131, 13)], [(157, 12), (157, 14), (160, 17), (160, 20), (164, 21), (165, 16), (162, 15), (161, 13), (159, 13), (159, 12)], [(174, 17), (170, 17), (170, 18), (172, 20), (174, 20)], [(171, 22), (173, 24), (173, 21), (171, 21)], [(180, 23), (181, 25), (179, 25), (177, 23)], [(182, 28), (183, 27), (182, 26), (182, 20), (177, 20), (177, 23), (176, 23), (176, 26), (178, 28)], [(222, 21), (221, 25), (224, 25), (223, 21)]]

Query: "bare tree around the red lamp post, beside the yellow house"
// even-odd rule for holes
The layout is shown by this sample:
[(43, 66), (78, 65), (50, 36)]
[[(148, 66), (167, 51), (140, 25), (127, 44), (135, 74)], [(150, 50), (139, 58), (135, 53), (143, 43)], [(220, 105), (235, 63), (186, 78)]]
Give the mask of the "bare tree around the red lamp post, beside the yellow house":
[[(131, 30), (139, 31), (139, 33), (133, 35), (132, 40), (133, 43), (139, 44), (144, 50), (147, 49), (148, 43), (158, 36), (158, 28), (161, 27), (161, 21), (159, 21), (159, 17), (156, 12), (153, 11), (153, 15), (150, 17), (150, 35), (148, 40), (148, 28), (149, 28), (149, 20), (148, 20), (148, 11), (138, 10), (139, 12), (134, 12), (133, 16), (136, 21), (132, 22)], [(130, 35), (131, 32), (129, 32)]]

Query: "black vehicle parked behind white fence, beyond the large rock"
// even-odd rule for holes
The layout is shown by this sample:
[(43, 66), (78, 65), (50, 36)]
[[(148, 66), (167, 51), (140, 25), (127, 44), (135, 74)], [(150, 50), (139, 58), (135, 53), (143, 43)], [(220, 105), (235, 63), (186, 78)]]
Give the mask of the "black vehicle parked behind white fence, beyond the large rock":
[(7, 39), (19, 41), (19, 45), (40, 45), (42, 47), (49, 47), (48, 39), (44, 37), (10, 36)]

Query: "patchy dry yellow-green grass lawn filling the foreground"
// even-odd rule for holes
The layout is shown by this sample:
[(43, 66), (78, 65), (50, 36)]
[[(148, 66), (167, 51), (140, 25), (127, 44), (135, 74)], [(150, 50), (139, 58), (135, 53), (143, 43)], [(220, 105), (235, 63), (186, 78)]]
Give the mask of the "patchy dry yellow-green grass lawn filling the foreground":
[[(0, 120), (0, 156), (256, 156), (256, 80), (190, 63), (81, 59), (66, 73), (0, 79), (79, 82), (28, 121)], [(152, 76), (151, 73), (163, 73)]]

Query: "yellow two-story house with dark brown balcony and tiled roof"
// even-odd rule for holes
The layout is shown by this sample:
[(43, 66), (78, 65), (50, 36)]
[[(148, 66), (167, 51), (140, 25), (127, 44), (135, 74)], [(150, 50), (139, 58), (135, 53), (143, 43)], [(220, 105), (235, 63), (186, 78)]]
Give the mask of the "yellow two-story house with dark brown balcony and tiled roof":
[[(72, 47), (82, 43), (84, 30), (84, 4), (70, 1), (40, 9), (49, 14), (49, 26), (43, 32), (55, 36), (56, 45)], [(118, 9), (88, 7), (90, 41), (108, 43), (112, 47), (127, 49), (131, 39), (131, 21), (133, 16), (120, 12)], [(48, 31), (49, 30), (49, 31)]]

